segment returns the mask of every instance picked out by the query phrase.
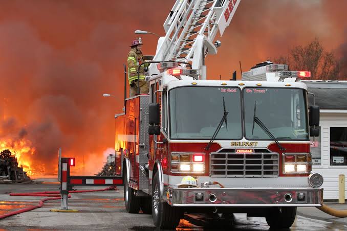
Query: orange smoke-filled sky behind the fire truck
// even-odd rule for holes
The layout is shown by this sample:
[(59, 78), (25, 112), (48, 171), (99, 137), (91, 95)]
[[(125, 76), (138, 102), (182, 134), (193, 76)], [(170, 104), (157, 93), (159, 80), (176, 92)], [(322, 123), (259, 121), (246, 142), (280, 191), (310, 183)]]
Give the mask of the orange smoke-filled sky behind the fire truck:
[[(136, 29), (164, 35), (175, 1), (3, 1), (0, 7), (0, 139), (25, 136), (31, 156), (56, 167), (58, 147), (96, 172), (114, 147), (114, 114), (123, 103), (122, 64)], [(216, 56), (206, 60), (208, 79), (230, 79), (288, 47), (318, 37), (346, 60), (347, 1), (242, 0)], [(142, 36), (144, 54), (157, 38)], [(105, 99), (103, 93), (117, 96)], [(88, 165), (88, 163), (91, 163)], [(95, 165), (95, 163), (100, 163)], [(90, 166), (93, 166), (92, 169)]]

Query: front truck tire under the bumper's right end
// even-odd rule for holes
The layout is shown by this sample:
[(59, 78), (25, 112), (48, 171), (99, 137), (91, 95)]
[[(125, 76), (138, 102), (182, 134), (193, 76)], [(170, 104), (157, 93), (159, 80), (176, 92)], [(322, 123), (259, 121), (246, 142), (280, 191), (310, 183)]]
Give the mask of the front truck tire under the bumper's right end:
[(271, 228), (290, 228), (296, 216), (296, 207), (272, 207), (266, 215)]

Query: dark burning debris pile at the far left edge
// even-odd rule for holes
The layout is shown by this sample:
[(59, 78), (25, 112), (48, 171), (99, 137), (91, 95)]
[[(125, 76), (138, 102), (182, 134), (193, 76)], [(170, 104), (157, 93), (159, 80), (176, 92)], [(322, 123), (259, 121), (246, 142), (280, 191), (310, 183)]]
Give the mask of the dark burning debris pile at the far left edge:
[(23, 167), (18, 167), (18, 160), (10, 150), (0, 152), (0, 183), (31, 182)]

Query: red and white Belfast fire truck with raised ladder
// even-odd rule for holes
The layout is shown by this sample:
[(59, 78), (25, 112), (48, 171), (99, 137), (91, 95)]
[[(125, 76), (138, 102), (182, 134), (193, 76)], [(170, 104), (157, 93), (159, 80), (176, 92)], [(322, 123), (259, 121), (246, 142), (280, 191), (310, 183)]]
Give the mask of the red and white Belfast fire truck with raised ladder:
[(145, 62), (149, 94), (125, 90), (115, 115), (126, 211), (152, 214), (159, 228), (176, 227), (185, 212), (247, 213), (288, 228), (296, 207), (322, 205), (310, 153), (319, 107), (300, 82), (310, 72), (267, 61), (240, 81), (206, 80), (205, 58), (221, 45), (214, 37), (240, 1), (177, 0)]

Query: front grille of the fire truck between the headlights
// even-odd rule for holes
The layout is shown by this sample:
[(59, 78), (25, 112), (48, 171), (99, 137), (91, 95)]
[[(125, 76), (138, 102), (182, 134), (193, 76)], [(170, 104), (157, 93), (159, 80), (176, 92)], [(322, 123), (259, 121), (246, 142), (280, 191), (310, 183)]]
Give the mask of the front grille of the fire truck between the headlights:
[(254, 153), (235, 153), (221, 149), (210, 153), (211, 177), (277, 177), (278, 153), (254, 149)]

